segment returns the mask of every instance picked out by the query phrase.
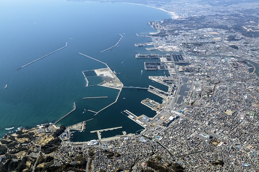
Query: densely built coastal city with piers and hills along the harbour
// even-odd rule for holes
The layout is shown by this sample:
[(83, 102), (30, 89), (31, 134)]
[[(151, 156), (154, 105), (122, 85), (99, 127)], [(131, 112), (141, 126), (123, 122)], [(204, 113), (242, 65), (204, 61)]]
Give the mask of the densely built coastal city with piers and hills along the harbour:
[(259, 3), (135, 1), (173, 16), (149, 21), (156, 33), (136, 34), (149, 38), (135, 46), (150, 53), (135, 58), (156, 59), (145, 70), (164, 70), (149, 79), (168, 86), (138, 87), (163, 99), (141, 102), (156, 115), (125, 110), (140, 134), (94, 131), (99, 139), (89, 142), (69, 139), (85, 122), (21, 129), (0, 140), (0, 172), (259, 172)]

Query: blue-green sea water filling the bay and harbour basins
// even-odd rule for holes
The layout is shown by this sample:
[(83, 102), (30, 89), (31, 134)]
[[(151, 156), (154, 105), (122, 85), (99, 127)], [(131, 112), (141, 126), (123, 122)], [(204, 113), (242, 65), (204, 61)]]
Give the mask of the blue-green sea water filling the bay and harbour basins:
[[(160, 53), (135, 47), (147, 42), (136, 33), (156, 32), (148, 21), (160, 21), (171, 16), (162, 10), (136, 4), (98, 3), (64, 0), (2, 0), (0, 1), (0, 137), (20, 127), (29, 129), (39, 124), (57, 123), (69, 126), (86, 121), (85, 132), (76, 132), (72, 141), (97, 139), (93, 130), (113, 127), (121, 129), (102, 132), (102, 138), (139, 133), (143, 128), (121, 112), (153, 117), (156, 112), (140, 102), (150, 98), (162, 103), (162, 98), (145, 90), (122, 90), (118, 101), (94, 116), (87, 110), (99, 111), (115, 101), (119, 90), (102, 86), (86, 87), (82, 71), (105, 68), (115, 70), (124, 86), (153, 85), (167, 91), (168, 87), (152, 82), (148, 76), (164, 75), (164, 71), (146, 71), (144, 61), (136, 53)], [(102, 52), (117, 43), (110, 50)], [(15, 69), (53, 52), (67, 42), (67, 47), (19, 70)], [(149, 47), (149, 46), (148, 46)], [(143, 71), (143, 72), (142, 72)], [(168, 73), (168, 72), (166, 72)], [(102, 80), (89, 78), (89, 85)], [(7, 84), (7, 88), (4, 89)], [(83, 97), (108, 96), (107, 99)], [(125, 99), (124, 99), (125, 98)], [(86, 110), (86, 112), (85, 112)], [(84, 112), (84, 113), (83, 113)]]

